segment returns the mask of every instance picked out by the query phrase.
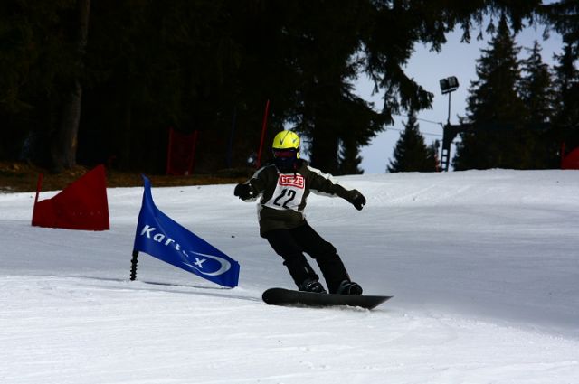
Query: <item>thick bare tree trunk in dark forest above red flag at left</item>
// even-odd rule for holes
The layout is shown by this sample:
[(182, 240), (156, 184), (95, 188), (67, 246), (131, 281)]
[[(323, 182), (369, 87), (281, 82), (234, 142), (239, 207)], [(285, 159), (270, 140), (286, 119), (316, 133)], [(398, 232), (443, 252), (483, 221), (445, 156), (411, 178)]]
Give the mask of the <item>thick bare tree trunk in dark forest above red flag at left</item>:
[(84, 68), (83, 56), (89, 32), (90, 0), (78, 0), (79, 30), (76, 43), (77, 72), (72, 79), (71, 89), (62, 105), (61, 124), (52, 140), (52, 167), (54, 172), (62, 172), (76, 165), (77, 138), (81, 121), (82, 86), (81, 72)]

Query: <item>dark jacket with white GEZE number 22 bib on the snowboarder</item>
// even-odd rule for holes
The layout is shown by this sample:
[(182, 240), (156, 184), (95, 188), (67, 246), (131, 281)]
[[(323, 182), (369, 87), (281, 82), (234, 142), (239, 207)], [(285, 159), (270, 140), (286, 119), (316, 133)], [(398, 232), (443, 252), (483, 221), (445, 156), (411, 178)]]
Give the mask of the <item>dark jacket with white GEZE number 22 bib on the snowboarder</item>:
[(292, 173), (280, 173), (274, 164), (265, 165), (246, 184), (250, 185), (253, 198), (245, 201), (255, 201), (261, 195), (258, 204), (261, 236), (272, 229), (293, 229), (305, 224), (303, 211), (309, 192), (338, 196), (350, 202), (359, 194), (346, 190), (331, 174), (322, 173), (301, 159)]

